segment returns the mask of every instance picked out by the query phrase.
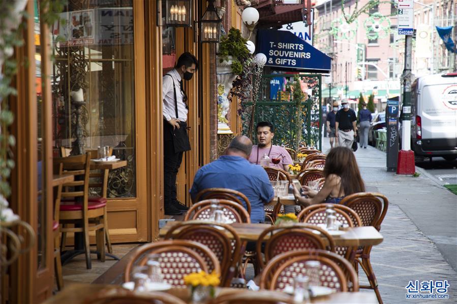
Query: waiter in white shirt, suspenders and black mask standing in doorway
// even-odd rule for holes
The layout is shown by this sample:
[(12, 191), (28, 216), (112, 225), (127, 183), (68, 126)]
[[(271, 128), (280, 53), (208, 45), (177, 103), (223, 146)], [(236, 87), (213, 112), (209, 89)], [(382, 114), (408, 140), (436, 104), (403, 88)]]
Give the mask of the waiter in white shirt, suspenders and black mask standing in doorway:
[(191, 80), (198, 60), (189, 52), (179, 56), (175, 68), (162, 80), (164, 119), (164, 208), (166, 215), (179, 215), (189, 208), (176, 199), (176, 175), (182, 154), (191, 150), (187, 133), (187, 95), (183, 80)]

